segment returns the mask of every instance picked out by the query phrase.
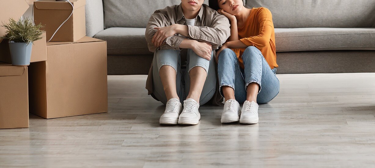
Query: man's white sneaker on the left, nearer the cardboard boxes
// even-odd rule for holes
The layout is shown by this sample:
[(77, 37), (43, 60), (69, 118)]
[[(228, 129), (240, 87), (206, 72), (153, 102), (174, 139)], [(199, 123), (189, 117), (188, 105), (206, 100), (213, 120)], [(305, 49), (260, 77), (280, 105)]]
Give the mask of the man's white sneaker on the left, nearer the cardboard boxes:
[(182, 105), (177, 98), (171, 98), (166, 102), (165, 111), (160, 117), (160, 124), (177, 124)]

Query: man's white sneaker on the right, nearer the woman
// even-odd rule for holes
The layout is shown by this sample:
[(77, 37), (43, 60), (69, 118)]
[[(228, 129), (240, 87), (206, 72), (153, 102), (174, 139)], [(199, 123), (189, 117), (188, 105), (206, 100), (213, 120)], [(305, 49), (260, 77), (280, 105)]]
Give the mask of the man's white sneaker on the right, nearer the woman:
[(198, 112), (199, 103), (192, 98), (184, 101), (184, 109), (178, 117), (178, 124), (196, 125), (201, 119), (201, 114)]

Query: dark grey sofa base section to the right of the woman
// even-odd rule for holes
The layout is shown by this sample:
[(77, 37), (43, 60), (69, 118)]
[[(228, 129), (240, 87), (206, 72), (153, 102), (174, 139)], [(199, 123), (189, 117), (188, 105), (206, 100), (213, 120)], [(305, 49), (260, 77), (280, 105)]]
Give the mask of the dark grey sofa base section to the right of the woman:
[(277, 74), (375, 72), (375, 51), (278, 52)]

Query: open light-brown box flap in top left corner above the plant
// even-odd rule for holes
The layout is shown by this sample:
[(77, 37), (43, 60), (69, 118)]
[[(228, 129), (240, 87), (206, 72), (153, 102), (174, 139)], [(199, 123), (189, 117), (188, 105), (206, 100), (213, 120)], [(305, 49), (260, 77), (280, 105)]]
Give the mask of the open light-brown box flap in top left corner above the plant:
[[(9, 23), (9, 18), (18, 20), (28, 9), (25, 0), (0, 0), (0, 24)], [(5, 36), (6, 29), (0, 27), (0, 36)], [(0, 39), (0, 42), (3, 39)]]

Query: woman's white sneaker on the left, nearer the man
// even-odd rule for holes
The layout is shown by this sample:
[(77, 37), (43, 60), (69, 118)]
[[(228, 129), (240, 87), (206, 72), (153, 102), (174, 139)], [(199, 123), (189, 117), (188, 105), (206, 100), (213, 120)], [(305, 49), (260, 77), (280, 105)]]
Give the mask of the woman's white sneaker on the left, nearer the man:
[(240, 120), (241, 107), (238, 101), (229, 99), (224, 104), (221, 123), (237, 122)]

